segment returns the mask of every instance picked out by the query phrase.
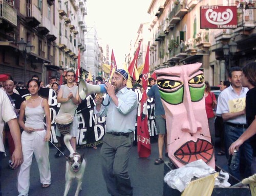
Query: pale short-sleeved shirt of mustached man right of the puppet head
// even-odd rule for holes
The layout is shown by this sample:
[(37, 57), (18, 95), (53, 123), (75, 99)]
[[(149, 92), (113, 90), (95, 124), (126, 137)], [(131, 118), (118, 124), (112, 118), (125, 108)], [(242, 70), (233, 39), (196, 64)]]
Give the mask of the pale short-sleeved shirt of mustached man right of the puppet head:
[[(248, 88), (242, 87), (240, 95), (238, 95), (236, 93), (236, 91), (234, 91), (232, 85), (230, 85), (228, 88), (226, 88), (225, 90), (223, 90), (220, 93), (220, 95), (218, 97), (218, 105), (217, 105), (216, 113), (220, 114), (220, 115), (229, 113), (231, 110), (230, 107), (236, 107), (232, 103), (241, 101), (241, 99), (244, 99), (243, 107), (245, 108), (245, 97), (246, 97), (247, 91), (248, 91)], [(241, 105), (239, 105), (239, 106), (241, 106)], [(246, 124), (246, 117), (245, 117), (245, 115), (241, 115), (236, 118), (228, 119), (226, 121), (234, 123), (234, 124)]]

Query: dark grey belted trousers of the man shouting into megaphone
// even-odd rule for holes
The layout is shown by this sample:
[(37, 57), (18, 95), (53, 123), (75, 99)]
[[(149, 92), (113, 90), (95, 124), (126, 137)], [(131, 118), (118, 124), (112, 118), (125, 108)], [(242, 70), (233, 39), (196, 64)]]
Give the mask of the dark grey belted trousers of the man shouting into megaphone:
[(128, 174), (128, 162), (133, 145), (134, 133), (115, 136), (106, 133), (101, 146), (102, 174), (106, 188), (114, 196), (131, 196), (133, 187)]

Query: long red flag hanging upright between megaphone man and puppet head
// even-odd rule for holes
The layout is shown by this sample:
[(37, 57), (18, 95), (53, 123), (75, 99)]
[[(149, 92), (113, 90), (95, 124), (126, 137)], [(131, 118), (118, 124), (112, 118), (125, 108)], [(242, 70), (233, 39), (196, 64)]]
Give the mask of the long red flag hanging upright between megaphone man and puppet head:
[(138, 117), (137, 117), (137, 141), (138, 141), (138, 154), (139, 157), (146, 158), (151, 155), (151, 142), (150, 142), (150, 133), (148, 132), (147, 125), (147, 82), (148, 74), (150, 72), (150, 42), (147, 45), (146, 58), (144, 69), (142, 71), (143, 80), (142, 87), (144, 92), (142, 93), (142, 98), (139, 103)]

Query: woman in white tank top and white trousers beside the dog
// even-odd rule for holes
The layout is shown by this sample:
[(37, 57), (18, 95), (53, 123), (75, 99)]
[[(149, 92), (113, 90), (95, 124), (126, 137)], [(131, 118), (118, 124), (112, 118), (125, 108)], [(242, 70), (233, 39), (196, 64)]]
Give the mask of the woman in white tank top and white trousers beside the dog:
[[(39, 82), (35, 79), (28, 81), (28, 90), (31, 97), (24, 101), (20, 106), (19, 126), (23, 128), (22, 133), (22, 151), (24, 162), (18, 172), (18, 192), (20, 195), (28, 195), (30, 167), (33, 154), (40, 173), (40, 182), (43, 188), (51, 184), (51, 171), (49, 162), (49, 145), (50, 139), (50, 109), (48, 101), (38, 95)], [(46, 128), (44, 122), (46, 116)], [(25, 119), (26, 117), (26, 119)], [(25, 119), (25, 123), (24, 123)]]

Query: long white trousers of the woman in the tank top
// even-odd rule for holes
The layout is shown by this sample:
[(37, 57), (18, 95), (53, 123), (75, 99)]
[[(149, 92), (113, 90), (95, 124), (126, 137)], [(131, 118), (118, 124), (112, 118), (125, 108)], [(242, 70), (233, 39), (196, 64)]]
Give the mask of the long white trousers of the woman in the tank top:
[(32, 163), (33, 154), (38, 165), (40, 173), (40, 182), (42, 184), (51, 184), (51, 170), (49, 161), (49, 145), (44, 141), (46, 130), (22, 133), (22, 152), (24, 162), (20, 165), (18, 171), (18, 195), (28, 195), (30, 167)]

